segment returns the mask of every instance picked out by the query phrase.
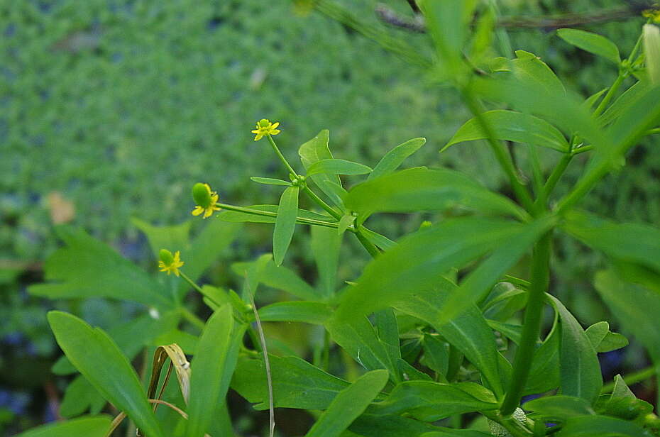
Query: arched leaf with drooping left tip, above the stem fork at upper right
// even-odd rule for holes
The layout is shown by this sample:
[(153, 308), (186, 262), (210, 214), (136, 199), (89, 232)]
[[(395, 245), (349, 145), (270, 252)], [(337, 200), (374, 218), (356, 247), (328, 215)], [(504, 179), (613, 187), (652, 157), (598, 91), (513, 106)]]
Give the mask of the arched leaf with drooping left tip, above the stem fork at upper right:
[[(541, 118), (515, 111), (496, 109), (481, 114), (488, 123), (497, 140), (515, 141), (568, 153), (568, 142), (556, 127)], [(488, 135), (483, 131), (477, 118), (472, 118), (456, 131), (449, 143), (440, 150), (463, 141), (485, 140)]]

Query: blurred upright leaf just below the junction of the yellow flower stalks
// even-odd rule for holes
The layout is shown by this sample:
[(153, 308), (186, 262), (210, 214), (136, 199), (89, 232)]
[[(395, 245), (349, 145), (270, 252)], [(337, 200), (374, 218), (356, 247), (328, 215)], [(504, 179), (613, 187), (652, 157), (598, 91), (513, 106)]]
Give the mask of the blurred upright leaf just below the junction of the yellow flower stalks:
[(321, 294), (331, 296), (337, 287), (341, 236), (334, 229), (321, 226), (312, 226), (309, 232), (312, 234), (312, 255), (319, 272), (317, 288)]

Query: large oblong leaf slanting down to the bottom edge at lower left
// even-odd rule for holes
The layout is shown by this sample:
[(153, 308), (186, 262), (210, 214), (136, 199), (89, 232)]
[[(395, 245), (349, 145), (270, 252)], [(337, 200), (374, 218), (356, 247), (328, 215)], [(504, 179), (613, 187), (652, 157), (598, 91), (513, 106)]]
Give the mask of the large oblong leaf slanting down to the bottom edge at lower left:
[(138, 375), (108, 334), (62, 311), (50, 311), (48, 322), (67, 358), (105, 399), (147, 435), (164, 436)]

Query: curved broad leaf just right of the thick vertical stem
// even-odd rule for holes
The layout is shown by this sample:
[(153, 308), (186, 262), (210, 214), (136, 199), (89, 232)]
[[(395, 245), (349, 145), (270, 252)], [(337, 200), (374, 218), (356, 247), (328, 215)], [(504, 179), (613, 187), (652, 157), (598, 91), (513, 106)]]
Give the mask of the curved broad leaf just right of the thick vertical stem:
[(603, 388), (603, 377), (596, 351), (582, 326), (558, 299), (551, 302), (561, 321), (559, 375), (561, 394), (581, 397), (593, 404)]

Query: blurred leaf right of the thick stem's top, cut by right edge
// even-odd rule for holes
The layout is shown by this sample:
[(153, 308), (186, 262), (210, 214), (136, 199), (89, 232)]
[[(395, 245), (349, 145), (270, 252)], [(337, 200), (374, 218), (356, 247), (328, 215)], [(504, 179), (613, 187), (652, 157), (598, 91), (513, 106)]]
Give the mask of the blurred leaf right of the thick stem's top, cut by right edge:
[(616, 223), (582, 211), (569, 211), (564, 231), (606, 255), (660, 272), (660, 229), (644, 223)]

